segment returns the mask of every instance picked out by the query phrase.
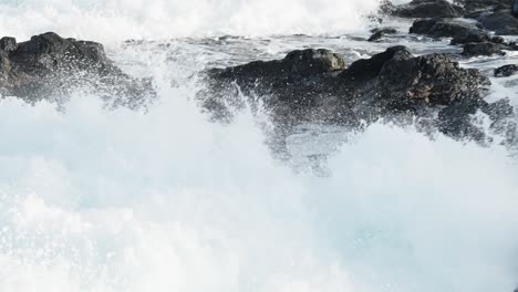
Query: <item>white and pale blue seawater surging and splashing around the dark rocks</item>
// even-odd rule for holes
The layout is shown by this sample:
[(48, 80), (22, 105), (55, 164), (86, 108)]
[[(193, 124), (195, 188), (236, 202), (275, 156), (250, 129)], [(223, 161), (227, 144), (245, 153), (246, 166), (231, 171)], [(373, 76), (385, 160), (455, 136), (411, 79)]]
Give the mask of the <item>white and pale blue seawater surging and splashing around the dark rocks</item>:
[[(506, 148), (375, 124), (325, 140), (333, 148), (329, 176), (296, 173), (290, 163), (272, 158), (251, 114), (240, 113), (229, 125), (207, 122), (194, 102), (196, 83), (187, 76), (250, 54), (277, 58), (305, 41), (258, 38), (226, 46), (194, 38), (169, 43), (169, 51), (120, 43), (345, 30), (361, 24), (358, 15), (373, 3), (2, 6), (2, 34), (56, 30), (110, 41), (117, 64), (155, 77), (159, 100), (147, 112), (106, 111), (97, 96), (82, 92), (64, 112), (48, 102), (0, 101), (0, 291), (516, 288), (518, 165)], [(308, 11), (313, 18), (304, 19)], [(270, 15), (271, 22), (257, 21)], [(514, 94), (503, 84), (493, 91)]]

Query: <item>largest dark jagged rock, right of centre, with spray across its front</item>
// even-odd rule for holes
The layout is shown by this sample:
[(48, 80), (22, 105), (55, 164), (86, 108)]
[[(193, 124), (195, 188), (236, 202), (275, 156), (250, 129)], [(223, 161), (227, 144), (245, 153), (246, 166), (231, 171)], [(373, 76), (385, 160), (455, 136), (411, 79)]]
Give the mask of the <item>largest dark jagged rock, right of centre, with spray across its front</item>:
[[(296, 55), (301, 52), (297, 51)], [(311, 58), (300, 60), (312, 62)], [(291, 70), (293, 66), (300, 64), (287, 58), (211, 70), (211, 88), (224, 93), (203, 96), (203, 103), (209, 111), (224, 111), (229, 104), (229, 92), (234, 91), (255, 98), (265, 96), (262, 101), (272, 114), (291, 123), (311, 121), (358, 126), (361, 121), (422, 116), (433, 108), (456, 106), (460, 101), (479, 101), (480, 91), (489, 85), (488, 79), (477, 70), (460, 69), (446, 55), (414, 56), (405, 46), (390, 48), (371, 59), (359, 60), (346, 70), (339, 66), (339, 71), (331, 71), (328, 66), (305, 72)], [(462, 108), (443, 112), (442, 117), (453, 123), (458, 111)], [(468, 114), (463, 118), (465, 115)], [(459, 133), (447, 131), (448, 123), (443, 123), (441, 129)]]

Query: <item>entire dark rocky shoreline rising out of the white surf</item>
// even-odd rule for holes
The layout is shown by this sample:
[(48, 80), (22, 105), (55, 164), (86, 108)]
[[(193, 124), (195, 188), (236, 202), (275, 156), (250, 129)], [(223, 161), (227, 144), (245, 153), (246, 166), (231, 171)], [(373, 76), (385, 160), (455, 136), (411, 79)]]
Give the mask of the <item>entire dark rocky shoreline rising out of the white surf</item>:
[[(505, 55), (518, 45), (518, 0), (414, 0), (382, 14), (415, 19), (408, 33), (450, 38), (459, 55), (414, 55), (394, 45), (370, 59), (346, 64), (325, 49), (292, 51), (282, 60), (256, 61), (206, 71), (206, 90), (198, 95), (216, 119), (229, 121), (234, 107), (260, 102), (281, 127), (323, 123), (359, 128), (380, 119), (413, 121), (424, 131), (458, 139), (487, 143), (485, 129), (472, 123), (484, 113), (490, 127), (516, 145), (516, 112), (506, 98), (485, 100), (490, 81), (476, 69), (463, 69), (455, 58)], [(365, 41), (377, 42), (393, 28), (373, 30)], [(18, 43), (0, 40), (0, 93), (30, 103), (66, 96), (72, 90), (93, 90), (112, 105), (138, 107), (155, 96), (151, 80), (138, 80), (118, 69), (95, 42), (64, 39), (49, 32)], [(495, 69), (496, 77), (518, 73), (517, 65)], [(244, 101), (241, 96), (249, 96)], [(505, 97), (505, 96), (503, 96)]]

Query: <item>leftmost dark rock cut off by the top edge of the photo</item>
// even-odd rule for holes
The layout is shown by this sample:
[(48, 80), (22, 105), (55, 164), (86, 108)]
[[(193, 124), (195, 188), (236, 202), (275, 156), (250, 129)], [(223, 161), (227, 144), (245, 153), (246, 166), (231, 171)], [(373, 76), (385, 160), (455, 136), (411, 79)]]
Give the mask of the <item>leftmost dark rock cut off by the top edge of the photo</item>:
[(458, 18), (462, 13), (446, 0), (413, 0), (396, 7), (393, 14), (401, 18)]

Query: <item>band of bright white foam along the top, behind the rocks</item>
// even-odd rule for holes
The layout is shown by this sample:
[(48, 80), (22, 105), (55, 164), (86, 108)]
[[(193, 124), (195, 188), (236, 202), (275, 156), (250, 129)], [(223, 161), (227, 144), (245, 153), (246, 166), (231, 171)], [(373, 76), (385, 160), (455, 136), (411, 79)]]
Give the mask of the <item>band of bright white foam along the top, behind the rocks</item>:
[(0, 34), (55, 31), (102, 42), (214, 34), (329, 33), (362, 25), (377, 0), (25, 0), (0, 4)]

